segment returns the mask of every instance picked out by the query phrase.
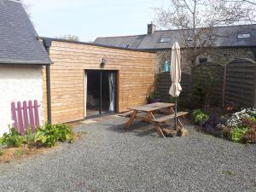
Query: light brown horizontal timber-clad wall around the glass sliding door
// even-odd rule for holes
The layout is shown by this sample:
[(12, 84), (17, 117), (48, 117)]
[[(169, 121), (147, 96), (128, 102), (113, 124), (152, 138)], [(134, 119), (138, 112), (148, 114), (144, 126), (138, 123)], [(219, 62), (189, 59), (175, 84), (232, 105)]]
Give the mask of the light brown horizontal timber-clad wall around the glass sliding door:
[[(54, 41), (49, 55), (54, 61), (50, 67), (52, 123), (84, 119), (86, 69), (117, 71), (119, 112), (144, 104), (154, 85), (155, 53)], [(104, 68), (102, 58), (107, 60)]]

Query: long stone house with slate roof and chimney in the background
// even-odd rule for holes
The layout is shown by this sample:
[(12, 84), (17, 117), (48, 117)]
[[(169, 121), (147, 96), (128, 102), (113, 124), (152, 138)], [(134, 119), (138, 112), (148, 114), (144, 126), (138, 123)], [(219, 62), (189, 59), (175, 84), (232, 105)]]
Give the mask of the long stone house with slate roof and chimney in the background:
[[(211, 48), (199, 55), (196, 63), (206, 61), (228, 64), (234, 59), (247, 58), (255, 61), (256, 47), (256, 25), (253, 26), (219, 26), (213, 28), (216, 38)], [(96, 38), (96, 44), (111, 45), (115, 47), (146, 49), (157, 52), (156, 73), (163, 72), (166, 61), (170, 63), (172, 44), (177, 41), (181, 45), (182, 70), (183, 73), (190, 73), (191, 61), (185, 55), (187, 49), (182, 45), (180, 30), (157, 31), (154, 24), (148, 24), (148, 32), (143, 35)]]

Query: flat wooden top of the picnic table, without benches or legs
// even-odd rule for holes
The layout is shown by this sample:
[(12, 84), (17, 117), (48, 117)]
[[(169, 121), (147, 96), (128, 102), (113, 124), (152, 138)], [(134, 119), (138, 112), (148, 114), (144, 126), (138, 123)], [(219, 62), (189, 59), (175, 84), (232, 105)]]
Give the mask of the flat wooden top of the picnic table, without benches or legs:
[(174, 107), (174, 103), (169, 103), (169, 102), (154, 102), (151, 104), (143, 105), (143, 106), (138, 106), (134, 108), (129, 108), (131, 110), (137, 110), (137, 111), (143, 111), (143, 112), (151, 112), (155, 111), (161, 108), (170, 108)]

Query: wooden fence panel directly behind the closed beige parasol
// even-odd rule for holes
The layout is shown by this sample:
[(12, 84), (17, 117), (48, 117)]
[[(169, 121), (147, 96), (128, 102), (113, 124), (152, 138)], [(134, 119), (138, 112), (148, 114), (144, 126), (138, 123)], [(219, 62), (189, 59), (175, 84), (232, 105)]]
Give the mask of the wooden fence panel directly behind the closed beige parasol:
[[(159, 73), (156, 80), (156, 90), (160, 93), (162, 102), (170, 102), (169, 90), (172, 84), (170, 73)], [(191, 89), (190, 74), (182, 73), (181, 85), (183, 91), (180, 96), (188, 96)]]

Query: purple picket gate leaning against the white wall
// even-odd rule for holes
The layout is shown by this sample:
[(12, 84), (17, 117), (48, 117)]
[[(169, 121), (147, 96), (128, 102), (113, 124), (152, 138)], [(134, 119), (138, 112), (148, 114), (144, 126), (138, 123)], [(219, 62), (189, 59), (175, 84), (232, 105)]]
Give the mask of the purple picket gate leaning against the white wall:
[(40, 125), (38, 113), (39, 107), (37, 100), (34, 100), (34, 102), (23, 102), (22, 105), (21, 102), (11, 103), (12, 116), (14, 120), (13, 126), (22, 136), (28, 127), (31, 127), (32, 131), (35, 132), (36, 128)]

